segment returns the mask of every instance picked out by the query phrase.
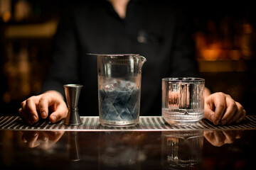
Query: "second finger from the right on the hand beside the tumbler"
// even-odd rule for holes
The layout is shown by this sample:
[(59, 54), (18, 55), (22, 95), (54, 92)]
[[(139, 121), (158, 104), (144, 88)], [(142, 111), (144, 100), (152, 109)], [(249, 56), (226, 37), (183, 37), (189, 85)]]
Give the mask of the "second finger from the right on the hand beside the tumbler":
[(220, 121), (220, 125), (225, 125), (228, 123), (228, 121), (233, 118), (233, 115), (235, 114), (235, 111), (237, 111), (237, 106), (235, 104), (235, 101), (230, 96), (226, 96), (225, 98), (226, 103), (226, 109), (225, 113), (223, 114), (223, 118)]

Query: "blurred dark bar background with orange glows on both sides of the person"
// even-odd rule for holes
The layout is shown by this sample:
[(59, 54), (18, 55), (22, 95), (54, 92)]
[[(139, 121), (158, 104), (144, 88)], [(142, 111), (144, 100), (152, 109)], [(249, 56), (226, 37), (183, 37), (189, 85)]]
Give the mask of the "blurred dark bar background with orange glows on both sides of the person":
[[(60, 13), (68, 0), (0, 0), (0, 115), (18, 115), (21, 101), (38, 94), (46, 77)], [(191, 3), (201, 76), (213, 92), (230, 94), (255, 115), (256, 12), (240, 4)]]

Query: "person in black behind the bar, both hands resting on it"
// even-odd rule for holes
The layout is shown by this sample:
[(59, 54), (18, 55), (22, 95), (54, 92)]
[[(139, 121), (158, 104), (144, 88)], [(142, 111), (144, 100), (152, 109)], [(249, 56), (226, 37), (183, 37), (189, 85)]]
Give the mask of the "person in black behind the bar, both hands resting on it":
[[(139, 54), (142, 74), (140, 115), (161, 115), (161, 79), (200, 77), (186, 13), (170, 1), (85, 1), (60, 20), (53, 58), (41, 94), (21, 103), (28, 123), (66, 117), (64, 84), (82, 84), (80, 115), (98, 115), (97, 57), (88, 53)], [(205, 89), (205, 118), (215, 125), (239, 123), (245, 110), (228, 94)]]

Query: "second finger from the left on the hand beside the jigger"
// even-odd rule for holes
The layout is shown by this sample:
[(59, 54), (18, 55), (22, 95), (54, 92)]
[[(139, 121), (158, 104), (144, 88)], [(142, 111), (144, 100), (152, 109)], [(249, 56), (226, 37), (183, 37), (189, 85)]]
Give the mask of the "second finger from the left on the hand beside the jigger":
[(27, 118), (31, 121), (31, 123), (36, 123), (38, 121), (36, 103), (33, 101), (33, 98), (28, 98), (28, 100), (26, 100), (26, 113)]

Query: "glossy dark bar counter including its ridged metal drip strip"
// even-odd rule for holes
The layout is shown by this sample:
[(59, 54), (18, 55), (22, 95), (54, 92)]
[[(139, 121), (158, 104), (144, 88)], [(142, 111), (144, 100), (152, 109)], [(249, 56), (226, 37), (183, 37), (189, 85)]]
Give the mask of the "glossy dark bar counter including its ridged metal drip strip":
[(27, 125), (0, 116), (0, 169), (252, 169), (256, 116), (239, 124), (168, 125), (140, 117), (132, 128), (108, 128), (98, 117), (82, 125), (41, 120)]

